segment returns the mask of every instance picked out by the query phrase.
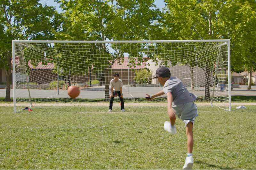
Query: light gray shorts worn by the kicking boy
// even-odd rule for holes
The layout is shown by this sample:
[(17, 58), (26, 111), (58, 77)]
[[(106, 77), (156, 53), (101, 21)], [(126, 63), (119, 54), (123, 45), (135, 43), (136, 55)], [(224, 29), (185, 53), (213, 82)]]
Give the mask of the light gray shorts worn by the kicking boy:
[(175, 111), (175, 115), (177, 115), (178, 118), (180, 118), (186, 126), (188, 122), (192, 122), (194, 125), (196, 117), (198, 116), (197, 107), (194, 102), (172, 106), (172, 108)]

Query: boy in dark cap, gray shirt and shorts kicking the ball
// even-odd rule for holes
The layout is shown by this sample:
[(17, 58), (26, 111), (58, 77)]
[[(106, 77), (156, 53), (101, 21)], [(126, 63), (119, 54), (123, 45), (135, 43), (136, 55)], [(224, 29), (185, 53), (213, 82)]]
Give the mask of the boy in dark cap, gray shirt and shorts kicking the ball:
[(172, 134), (176, 133), (175, 120), (176, 115), (180, 118), (186, 125), (186, 135), (187, 135), (187, 157), (183, 169), (192, 169), (193, 166), (193, 125), (196, 117), (198, 116), (197, 107), (194, 103), (196, 96), (188, 92), (185, 85), (176, 77), (171, 77), (171, 72), (167, 67), (159, 67), (156, 70), (156, 77), (159, 83), (163, 85), (163, 90), (157, 92), (156, 94), (150, 96), (148, 94), (146, 99), (151, 101), (155, 97), (161, 96), (163, 94), (167, 95), (167, 113), (170, 118), (170, 122), (164, 122), (164, 130)]

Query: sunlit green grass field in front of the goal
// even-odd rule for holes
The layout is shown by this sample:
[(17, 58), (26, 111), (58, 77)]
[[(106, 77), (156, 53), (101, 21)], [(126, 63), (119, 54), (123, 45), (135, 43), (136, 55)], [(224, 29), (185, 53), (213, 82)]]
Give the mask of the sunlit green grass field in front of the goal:
[[(199, 107), (194, 169), (256, 169), (256, 106)], [(181, 169), (185, 126), (164, 131), (165, 107), (0, 107), (0, 169)]]

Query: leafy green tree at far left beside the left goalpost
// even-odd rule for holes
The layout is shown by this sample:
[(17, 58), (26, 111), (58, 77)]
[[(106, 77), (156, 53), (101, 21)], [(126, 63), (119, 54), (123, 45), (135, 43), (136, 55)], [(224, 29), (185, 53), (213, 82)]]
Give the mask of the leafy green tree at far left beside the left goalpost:
[(6, 74), (5, 101), (10, 100), (12, 40), (51, 40), (52, 30), (60, 27), (60, 15), (54, 7), (39, 0), (0, 1), (0, 68)]

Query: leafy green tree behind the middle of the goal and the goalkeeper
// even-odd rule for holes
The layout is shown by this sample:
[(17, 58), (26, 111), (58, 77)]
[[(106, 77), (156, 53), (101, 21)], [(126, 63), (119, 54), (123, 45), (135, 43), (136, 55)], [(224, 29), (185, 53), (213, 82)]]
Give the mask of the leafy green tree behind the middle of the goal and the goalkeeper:
[[(147, 40), (151, 23), (158, 17), (159, 9), (154, 0), (58, 0), (65, 11), (62, 30), (56, 32), (59, 40)], [(105, 74), (112, 64), (118, 60), (122, 62), (124, 53), (129, 52), (131, 64), (135, 59), (143, 61), (141, 50), (143, 45), (134, 44), (131, 49), (124, 48), (127, 44), (97, 45), (105, 54), (99, 58), (102, 62), (101, 74), (104, 77), (105, 100), (109, 99), (109, 82)], [(109, 47), (115, 51), (109, 52)], [(138, 50), (139, 49), (139, 50)], [(128, 51), (129, 50), (129, 51)], [(104, 57), (104, 58), (102, 58)], [(92, 59), (93, 60), (93, 59)], [(91, 61), (94, 63), (94, 61)], [(96, 69), (94, 69), (96, 70)]]

